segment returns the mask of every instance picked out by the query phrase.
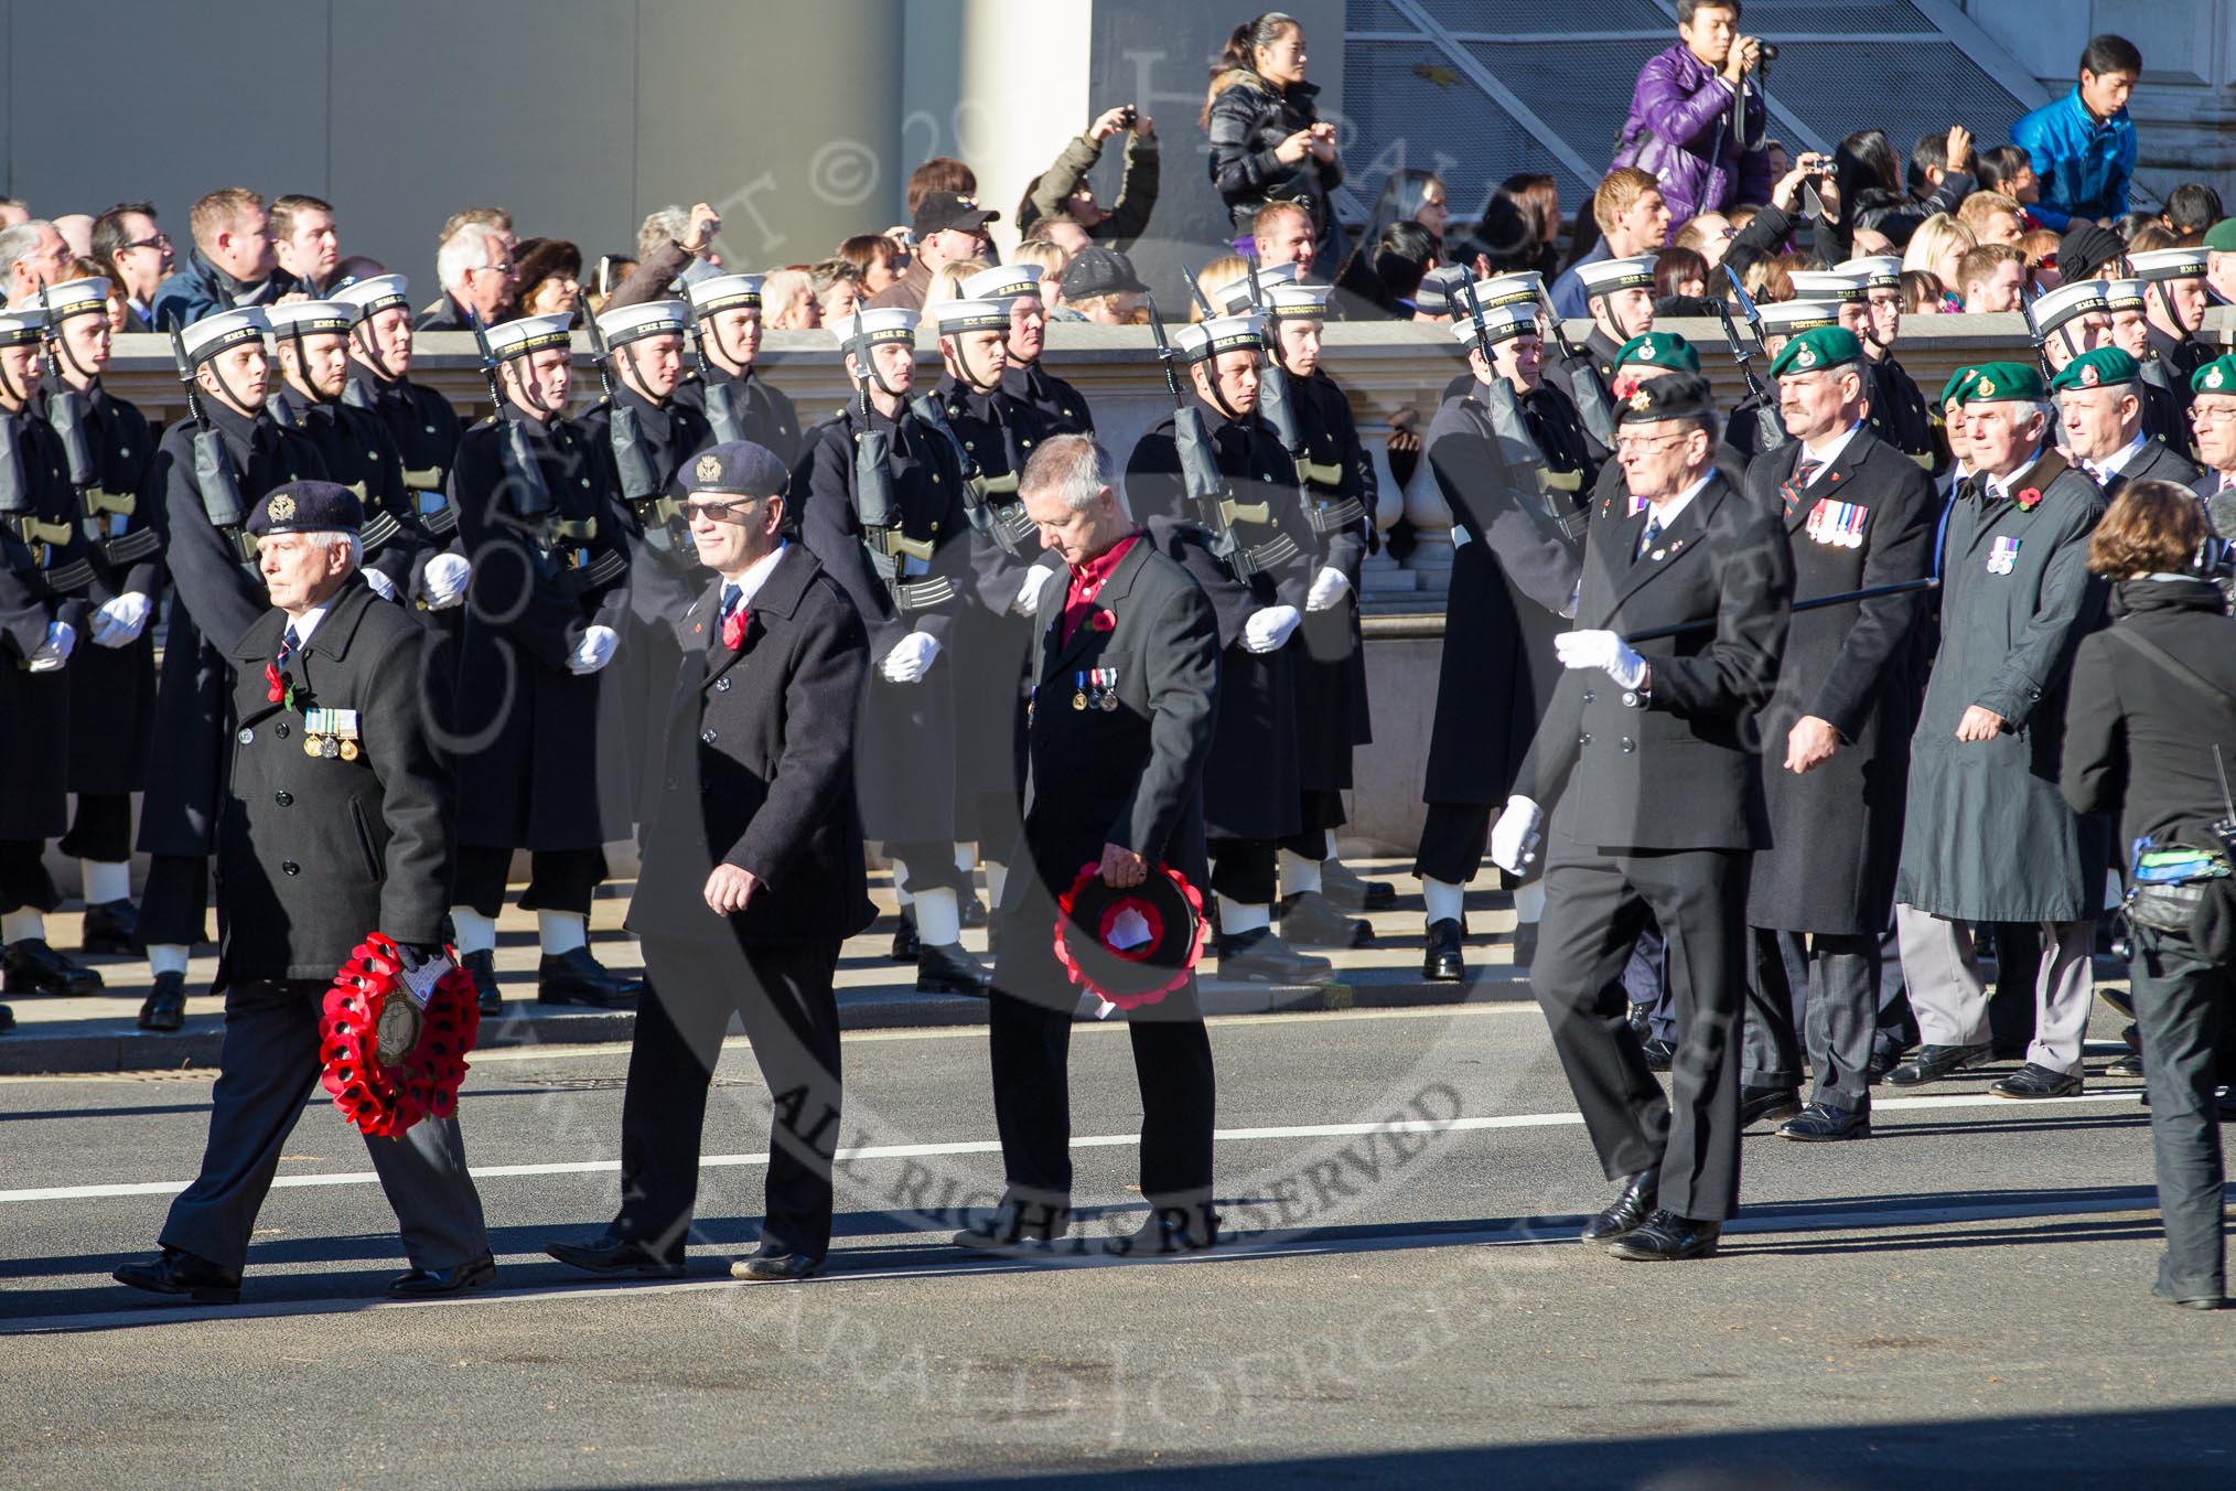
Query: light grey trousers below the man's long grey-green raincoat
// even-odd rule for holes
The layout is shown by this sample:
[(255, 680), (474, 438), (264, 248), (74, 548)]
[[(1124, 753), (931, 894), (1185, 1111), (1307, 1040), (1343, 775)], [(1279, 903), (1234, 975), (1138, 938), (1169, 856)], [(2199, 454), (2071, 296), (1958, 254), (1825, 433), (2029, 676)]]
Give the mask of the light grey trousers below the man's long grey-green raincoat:
[[(1979, 977), (1972, 925), (1894, 908), (1894, 930), (1903, 946), (1903, 977), (1918, 1037), (1927, 1046), (1986, 1046), (1988, 984)], [(2079, 1073), (2082, 1035), (2088, 1031), (2088, 997), (2095, 993), (2095, 919), (2044, 921), (2041, 963), (2035, 970), (2035, 1039), (2026, 1060), (2048, 1071)], [(2006, 970), (2017, 972), (2017, 970)]]

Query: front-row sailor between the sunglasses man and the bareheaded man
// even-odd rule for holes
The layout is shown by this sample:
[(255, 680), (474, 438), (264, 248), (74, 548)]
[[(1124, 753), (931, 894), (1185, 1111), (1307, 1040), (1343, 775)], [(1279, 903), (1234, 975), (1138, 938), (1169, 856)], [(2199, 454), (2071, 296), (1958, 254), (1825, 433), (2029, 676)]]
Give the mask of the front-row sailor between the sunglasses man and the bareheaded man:
[(988, 972), (961, 946), (955, 863), (955, 673), (946, 657), (973, 579), (970, 516), (955, 447), (917, 418), (917, 313), (861, 311), (832, 331), (859, 398), (807, 434), (794, 472), (807, 550), (870, 630), (856, 791), (863, 832), (883, 843), (917, 925), (917, 988), (982, 995)]

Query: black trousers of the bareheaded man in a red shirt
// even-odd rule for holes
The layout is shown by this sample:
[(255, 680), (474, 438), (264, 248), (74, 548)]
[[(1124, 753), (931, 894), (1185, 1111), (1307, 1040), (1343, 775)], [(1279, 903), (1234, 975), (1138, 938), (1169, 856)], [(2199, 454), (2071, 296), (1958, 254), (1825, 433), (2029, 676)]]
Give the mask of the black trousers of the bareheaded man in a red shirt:
[[(1055, 961), (1055, 905), (1040, 885), (1004, 912), (1002, 959), (988, 997), (993, 1118), (1006, 1200), (1071, 1205), (1071, 1013), (1078, 990)], [(1212, 1198), (1216, 1080), (1196, 986), (1127, 1015), (1140, 1084), (1140, 1194), (1152, 1207)]]

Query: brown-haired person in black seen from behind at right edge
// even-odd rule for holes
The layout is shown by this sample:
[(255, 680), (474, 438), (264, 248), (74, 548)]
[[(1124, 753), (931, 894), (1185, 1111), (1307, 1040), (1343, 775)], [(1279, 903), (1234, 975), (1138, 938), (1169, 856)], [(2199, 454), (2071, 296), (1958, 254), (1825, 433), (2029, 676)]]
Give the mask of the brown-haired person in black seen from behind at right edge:
[(2198, 498), (2171, 481), (2131, 483), (2097, 523), (2088, 568), (2113, 581), (2113, 624), (2073, 657), (2057, 782), (2073, 811), (2120, 814), (2129, 845), (2129, 988), (2167, 1225), (2151, 1292), (2189, 1310), (2227, 1303), (2214, 1086), (2236, 993), (2223, 776), (2236, 756), (2236, 619), (2191, 568), (2207, 534)]

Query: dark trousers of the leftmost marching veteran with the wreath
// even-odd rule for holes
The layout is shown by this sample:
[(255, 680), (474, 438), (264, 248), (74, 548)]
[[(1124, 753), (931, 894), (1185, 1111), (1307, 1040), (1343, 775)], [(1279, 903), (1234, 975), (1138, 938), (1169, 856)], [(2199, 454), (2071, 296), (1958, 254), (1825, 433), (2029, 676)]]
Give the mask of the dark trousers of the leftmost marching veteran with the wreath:
[[(309, 979), (246, 981), (226, 990), (226, 1044), (210, 1093), (210, 1142), (195, 1185), (170, 1203), (163, 1247), (181, 1247), (228, 1270), (248, 1263), (248, 1234), (280, 1169), (286, 1136), (295, 1131), (304, 1100), (320, 1091), (324, 995), (326, 986)], [(320, 1122), (342, 1120), (320, 1113)], [(458, 1267), (490, 1252), (456, 1118), (423, 1118), (394, 1140), (367, 1136), (364, 1149), (396, 1209), (414, 1267)]]

